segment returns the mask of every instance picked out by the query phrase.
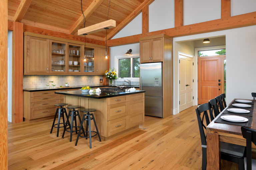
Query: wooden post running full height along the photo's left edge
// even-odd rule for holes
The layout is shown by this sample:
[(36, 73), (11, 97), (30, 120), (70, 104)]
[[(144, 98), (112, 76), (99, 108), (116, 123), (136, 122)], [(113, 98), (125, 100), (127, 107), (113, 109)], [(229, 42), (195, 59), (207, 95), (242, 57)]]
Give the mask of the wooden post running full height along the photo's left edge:
[(8, 166), (7, 134), (7, 41), (8, 41), (8, 1), (0, 1), (0, 169)]

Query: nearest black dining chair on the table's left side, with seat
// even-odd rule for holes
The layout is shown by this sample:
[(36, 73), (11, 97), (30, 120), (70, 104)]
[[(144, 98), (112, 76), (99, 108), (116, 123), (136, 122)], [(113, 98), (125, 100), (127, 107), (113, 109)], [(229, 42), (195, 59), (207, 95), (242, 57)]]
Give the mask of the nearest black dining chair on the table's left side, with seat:
[[(207, 143), (206, 143), (206, 135), (204, 130), (206, 130), (206, 126), (210, 124), (208, 112), (209, 111), (209, 103), (205, 103), (199, 105), (196, 109), (196, 116), (201, 136), (201, 146), (202, 146), (202, 170), (206, 170), (207, 165)], [(202, 115), (201, 115), (202, 114)], [(204, 119), (205, 123), (204, 124)], [(232, 143), (224, 143), (220, 142), (220, 150), (221, 150), (221, 159), (238, 163), (239, 170), (244, 170), (244, 146), (235, 145)]]

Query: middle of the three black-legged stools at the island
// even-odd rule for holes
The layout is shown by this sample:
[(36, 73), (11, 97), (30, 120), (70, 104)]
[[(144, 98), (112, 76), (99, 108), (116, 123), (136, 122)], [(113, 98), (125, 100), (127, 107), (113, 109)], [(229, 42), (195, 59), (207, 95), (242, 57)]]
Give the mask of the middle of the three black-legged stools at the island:
[[(66, 121), (66, 124), (64, 126), (64, 131), (63, 131), (63, 134), (62, 134), (62, 139), (64, 138), (65, 131), (68, 131), (68, 132), (70, 132), (70, 142), (72, 141), (72, 133), (73, 132), (77, 133), (77, 131), (78, 131), (77, 128), (79, 128), (79, 126), (77, 126), (76, 116), (78, 116), (79, 122), (81, 122), (79, 112), (78, 112), (78, 110), (75, 110), (75, 109), (78, 109), (78, 108), (81, 108), (81, 106), (67, 106), (67, 109), (72, 109), (72, 110), (70, 110), (68, 112), (67, 121)], [(69, 122), (69, 117), (70, 116), (71, 116), (70, 130), (67, 130), (67, 129), (69, 129), (69, 128), (67, 128), (67, 124)], [(73, 121), (75, 121), (75, 126), (73, 126)], [(73, 128), (75, 128), (76, 130), (73, 130)], [(83, 130), (83, 132), (84, 132), (84, 130)]]

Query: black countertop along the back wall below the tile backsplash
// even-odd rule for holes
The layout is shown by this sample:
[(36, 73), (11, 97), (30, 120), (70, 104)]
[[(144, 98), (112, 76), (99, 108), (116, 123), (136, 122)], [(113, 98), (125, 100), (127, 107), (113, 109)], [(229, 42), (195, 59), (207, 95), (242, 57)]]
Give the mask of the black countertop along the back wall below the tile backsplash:
[[(115, 87), (114, 85), (110, 86), (110, 85), (88, 85), (91, 88), (95, 88), (95, 87)], [(72, 86), (72, 87), (64, 87), (64, 88), (54, 88), (54, 89), (47, 89), (47, 88), (31, 88), (31, 89), (23, 89), (23, 91), (25, 92), (37, 92), (37, 91), (49, 91), (49, 90), (62, 90), (62, 89), (80, 89), (84, 86)], [(140, 88), (139, 86), (126, 86), (128, 88), (130, 87), (134, 87), (134, 88)]]

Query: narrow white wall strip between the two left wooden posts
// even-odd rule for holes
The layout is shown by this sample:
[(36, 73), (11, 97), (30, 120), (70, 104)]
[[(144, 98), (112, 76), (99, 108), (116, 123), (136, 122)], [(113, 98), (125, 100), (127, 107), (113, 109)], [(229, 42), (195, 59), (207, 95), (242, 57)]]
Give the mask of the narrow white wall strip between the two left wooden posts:
[(8, 121), (12, 122), (12, 31), (8, 31), (7, 87)]

